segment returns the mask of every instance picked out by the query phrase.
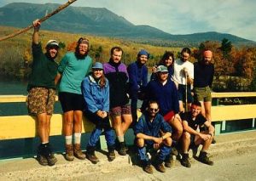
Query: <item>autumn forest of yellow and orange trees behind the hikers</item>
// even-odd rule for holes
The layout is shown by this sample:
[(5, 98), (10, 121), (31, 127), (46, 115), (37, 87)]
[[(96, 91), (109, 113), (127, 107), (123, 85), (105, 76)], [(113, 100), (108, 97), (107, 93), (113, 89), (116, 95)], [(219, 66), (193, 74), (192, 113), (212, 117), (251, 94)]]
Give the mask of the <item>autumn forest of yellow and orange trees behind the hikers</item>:
[[(1, 35), (1, 32), (0, 32)], [(55, 38), (60, 41), (61, 49), (57, 61), (61, 60), (67, 51), (73, 51), (76, 40), (84, 35), (71, 35), (67, 33), (53, 33), (52, 31), (41, 32), (43, 43)], [(30, 74), (32, 63), (31, 51), (32, 31), (21, 37), (0, 42), (0, 76), (8, 76), (14, 79), (27, 79)], [(109, 51), (113, 46), (124, 48), (122, 61), (129, 65), (137, 57), (137, 52), (145, 48), (150, 53), (148, 67), (156, 65), (166, 50), (172, 51), (179, 56), (181, 48), (157, 47), (147, 44), (139, 44), (125, 40), (107, 37), (89, 37), (90, 56), (94, 61), (107, 62)], [(191, 48), (193, 54), (191, 61), (201, 60), (201, 52), (210, 49), (213, 52), (213, 63), (215, 66), (215, 80), (213, 90), (215, 91), (256, 91), (256, 47), (234, 47), (228, 39), (222, 42), (201, 42), (198, 47)]]

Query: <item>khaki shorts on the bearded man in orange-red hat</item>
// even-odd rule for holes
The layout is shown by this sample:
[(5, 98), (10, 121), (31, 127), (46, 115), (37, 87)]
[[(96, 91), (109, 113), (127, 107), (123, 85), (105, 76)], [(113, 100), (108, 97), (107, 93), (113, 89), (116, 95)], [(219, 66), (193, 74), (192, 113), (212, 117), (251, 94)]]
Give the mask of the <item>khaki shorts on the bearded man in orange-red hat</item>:
[(211, 102), (212, 101), (212, 94), (211, 88), (207, 86), (206, 88), (194, 88), (195, 93), (195, 100), (203, 101), (203, 102)]

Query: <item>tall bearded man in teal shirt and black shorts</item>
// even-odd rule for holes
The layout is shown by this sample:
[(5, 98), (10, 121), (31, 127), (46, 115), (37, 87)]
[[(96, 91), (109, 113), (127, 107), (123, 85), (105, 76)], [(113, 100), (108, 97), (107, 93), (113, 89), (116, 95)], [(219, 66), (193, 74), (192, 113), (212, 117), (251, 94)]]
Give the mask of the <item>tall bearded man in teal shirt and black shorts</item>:
[[(59, 99), (64, 112), (63, 132), (66, 142), (67, 161), (73, 161), (74, 156), (84, 160), (81, 151), (82, 118), (84, 110), (84, 97), (81, 83), (90, 72), (92, 59), (88, 55), (89, 40), (80, 37), (75, 52), (65, 54), (58, 68), (55, 82), (60, 81)], [(74, 142), (73, 142), (74, 137)]]

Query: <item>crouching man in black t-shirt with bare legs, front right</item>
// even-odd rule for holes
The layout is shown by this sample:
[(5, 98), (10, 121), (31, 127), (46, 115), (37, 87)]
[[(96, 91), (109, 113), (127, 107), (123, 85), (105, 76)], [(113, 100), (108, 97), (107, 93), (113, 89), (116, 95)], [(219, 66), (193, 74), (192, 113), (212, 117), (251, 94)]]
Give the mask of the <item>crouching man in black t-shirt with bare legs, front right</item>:
[[(191, 167), (191, 163), (189, 162), (189, 146), (192, 148), (192, 150), (197, 150), (198, 146), (202, 144), (198, 161), (201, 161), (207, 165), (213, 165), (213, 161), (210, 161), (209, 157), (207, 156), (207, 150), (212, 143), (214, 127), (212, 127), (211, 122), (207, 121), (207, 119), (201, 115), (201, 103), (192, 103), (191, 110), (181, 114), (181, 119), (183, 121), (183, 157), (181, 164), (184, 167)], [(207, 127), (207, 131), (197, 131), (203, 126)]]

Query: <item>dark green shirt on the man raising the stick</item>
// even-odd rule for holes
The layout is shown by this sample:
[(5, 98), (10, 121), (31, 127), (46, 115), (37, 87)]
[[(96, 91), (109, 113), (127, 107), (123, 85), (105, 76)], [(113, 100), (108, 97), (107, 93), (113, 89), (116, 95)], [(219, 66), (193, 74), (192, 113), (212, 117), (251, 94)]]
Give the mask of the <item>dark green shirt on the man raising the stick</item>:
[(55, 76), (58, 64), (54, 59), (49, 59), (42, 51), (41, 44), (32, 43), (32, 73), (27, 85), (27, 91), (31, 88), (55, 88)]

